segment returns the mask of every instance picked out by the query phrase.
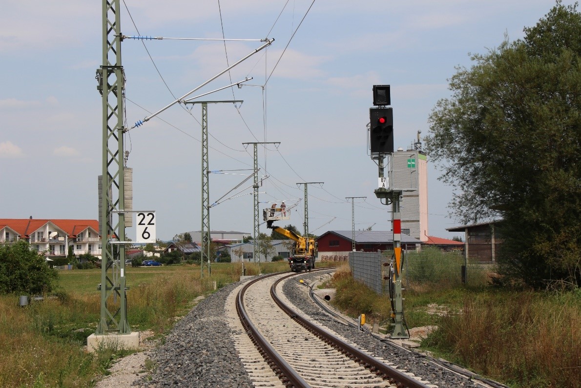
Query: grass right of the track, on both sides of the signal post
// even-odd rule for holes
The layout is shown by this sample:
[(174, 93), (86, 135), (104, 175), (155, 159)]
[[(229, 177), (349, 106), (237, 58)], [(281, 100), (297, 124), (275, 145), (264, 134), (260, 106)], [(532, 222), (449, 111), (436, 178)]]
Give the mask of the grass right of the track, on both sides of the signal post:
[[(390, 302), (357, 283), (349, 267), (329, 286), (333, 303), (370, 322), (389, 318)], [(492, 287), (404, 292), (410, 328), (437, 325), (422, 348), (514, 388), (581, 387), (581, 290), (514, 291)]]

